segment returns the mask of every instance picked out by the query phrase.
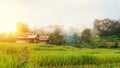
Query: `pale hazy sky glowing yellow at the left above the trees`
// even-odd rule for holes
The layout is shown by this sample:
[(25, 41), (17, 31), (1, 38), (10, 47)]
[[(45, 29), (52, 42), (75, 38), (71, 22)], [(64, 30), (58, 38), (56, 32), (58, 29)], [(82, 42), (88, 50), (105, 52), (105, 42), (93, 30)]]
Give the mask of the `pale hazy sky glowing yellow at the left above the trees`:
[(120, 0), (0, 0), (0, 32), (15, 31), (17, 22), (82, 30), (92, 28), (95, 19), (119, 16)]

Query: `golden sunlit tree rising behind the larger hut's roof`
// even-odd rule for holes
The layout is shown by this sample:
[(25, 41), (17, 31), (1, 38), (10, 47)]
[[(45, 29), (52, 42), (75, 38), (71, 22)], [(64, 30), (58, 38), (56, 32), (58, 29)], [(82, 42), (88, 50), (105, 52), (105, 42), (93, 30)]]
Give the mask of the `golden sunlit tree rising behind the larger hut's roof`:
[(30, 32), (30, 28), (27, 24), (18, 22), (16, 24), (16, 31), (17, 31), (17, 33)]

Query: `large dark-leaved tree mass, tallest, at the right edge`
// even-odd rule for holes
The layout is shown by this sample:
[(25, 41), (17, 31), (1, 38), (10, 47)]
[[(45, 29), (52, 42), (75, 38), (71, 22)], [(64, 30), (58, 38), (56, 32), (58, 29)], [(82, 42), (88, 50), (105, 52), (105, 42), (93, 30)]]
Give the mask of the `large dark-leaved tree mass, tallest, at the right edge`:
[(98, 31), (99, 36), (119, 35), (120, 21), (112, 19), (103, 19), (94, 21), (94, 29)]

